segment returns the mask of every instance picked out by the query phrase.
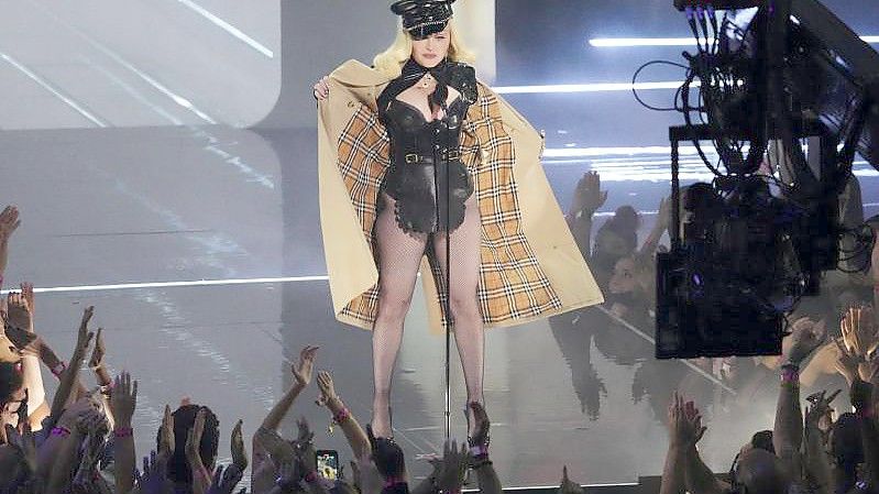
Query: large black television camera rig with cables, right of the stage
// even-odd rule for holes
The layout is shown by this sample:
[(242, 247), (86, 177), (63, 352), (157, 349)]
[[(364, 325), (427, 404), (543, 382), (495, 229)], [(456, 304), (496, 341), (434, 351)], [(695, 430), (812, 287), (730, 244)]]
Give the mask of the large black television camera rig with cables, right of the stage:
[[(879, 54), (817, 0), (674, 6), (697, 50), (683, 54), (675, 107), (685, 124), (669, 135), (671, 249), (657, 262), (656, 355), (779, 354), (785, 315), (818, 293), (824, 272), (868, 266), (872, 230), (843, 226), (838, 202), (856, 154), (879, 169)], [(681, 142), (692, 142), (711, 183), (681, 188)]]

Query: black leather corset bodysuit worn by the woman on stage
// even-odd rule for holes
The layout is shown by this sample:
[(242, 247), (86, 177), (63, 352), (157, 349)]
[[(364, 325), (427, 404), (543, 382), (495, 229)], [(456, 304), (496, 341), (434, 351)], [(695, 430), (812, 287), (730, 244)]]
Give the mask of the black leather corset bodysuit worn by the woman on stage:
[(391, 138), (391, 167), (383, 190), (395, 199), (397, 224), (404, 231), (444, 231), (447, 212), (450, 231), (464, 221), (464, 201), (473, 194), (473, 183), (459, 147), (469, 106), (459, 96), (444, 117), (433, 121), (396, 98), (380, 107), (380, 119)]

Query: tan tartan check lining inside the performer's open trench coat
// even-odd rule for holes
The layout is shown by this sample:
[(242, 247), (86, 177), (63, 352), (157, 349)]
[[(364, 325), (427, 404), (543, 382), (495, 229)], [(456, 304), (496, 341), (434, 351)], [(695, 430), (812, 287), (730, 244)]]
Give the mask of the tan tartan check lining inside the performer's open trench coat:
[[(389, 163), (391, 141), (377, 114), (361, 106), (339, 139), (339, 172), (376, 257), (373, 224), (378, 194)], [(461, 161), (473, 179), (482, 223), (479, 301), (486, 327), (510, 319), (532, 318), (562, 307), (540, 268), (525, 233), (517, 187), (513, 139), (501, 119), (497, 97), (480, 85), (461, 134)], [(440, 307), (444, 286), (439, 263), (428, 249)], [(377, 265), (377, 259), (376, 265)], [(378, 287), (351, 300), (342, 314), (372, 325), (378, 309)], [(444, 316), (444, 315), (443, 315)], [(444, 317), (443, 317), (444, 322)]]

